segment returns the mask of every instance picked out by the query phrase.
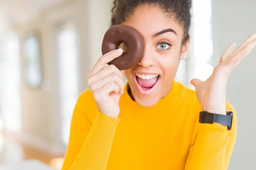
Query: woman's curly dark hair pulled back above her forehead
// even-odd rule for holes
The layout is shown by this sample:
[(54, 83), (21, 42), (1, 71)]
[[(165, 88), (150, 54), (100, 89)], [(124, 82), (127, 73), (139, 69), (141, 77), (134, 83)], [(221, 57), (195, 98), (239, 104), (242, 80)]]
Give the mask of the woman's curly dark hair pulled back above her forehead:
[(111, 26), (122, 24), (138, 7), (143, 5), (160, 7), (183, 28), (183, 44), (189, 40), (192, 0), (114, 0), (111, 10)]

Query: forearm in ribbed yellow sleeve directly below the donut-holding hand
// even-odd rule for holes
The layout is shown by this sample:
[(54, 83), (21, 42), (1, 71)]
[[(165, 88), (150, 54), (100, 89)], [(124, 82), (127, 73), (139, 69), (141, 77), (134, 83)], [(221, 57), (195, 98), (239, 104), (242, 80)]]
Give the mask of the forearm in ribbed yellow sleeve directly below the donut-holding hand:
[(70, 170), (105, 170), (119, 121), (98, 112)]

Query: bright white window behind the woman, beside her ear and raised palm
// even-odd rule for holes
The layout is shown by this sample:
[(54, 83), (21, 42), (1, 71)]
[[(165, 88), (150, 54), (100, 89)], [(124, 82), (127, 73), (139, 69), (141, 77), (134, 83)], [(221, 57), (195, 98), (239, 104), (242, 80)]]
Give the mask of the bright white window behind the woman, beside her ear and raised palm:
[(192, 1), (192, 25), (190, 30), (190, 49), (186, 59), (180, 62), (176, 79), (190, 88), (193, 78), (206, 80), (212, 67), (212, 1)]

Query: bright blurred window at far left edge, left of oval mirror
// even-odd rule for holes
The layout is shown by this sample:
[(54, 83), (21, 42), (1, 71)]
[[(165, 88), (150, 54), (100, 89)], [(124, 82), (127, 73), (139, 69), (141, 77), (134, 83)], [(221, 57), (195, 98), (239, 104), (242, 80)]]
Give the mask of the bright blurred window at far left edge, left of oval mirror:
[[(20, 59), (15, 36), (0, 44), (0, 116), (4, 128), (21, 129)], [(0, 122), (1, 123), (1, 122)]]

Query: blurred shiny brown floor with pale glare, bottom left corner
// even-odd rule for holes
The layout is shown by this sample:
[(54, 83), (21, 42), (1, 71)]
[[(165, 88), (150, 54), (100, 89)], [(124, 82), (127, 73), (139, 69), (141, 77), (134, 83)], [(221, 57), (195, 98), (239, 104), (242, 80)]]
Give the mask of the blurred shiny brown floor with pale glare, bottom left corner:
[(51, 167), (60, 170), (63, 163), (63, 156), (53, 156), (34, 147), (27, 146), (20, 142), (0, 134), (0, 164), (14, 163), (18, 161), (38, 159)]

